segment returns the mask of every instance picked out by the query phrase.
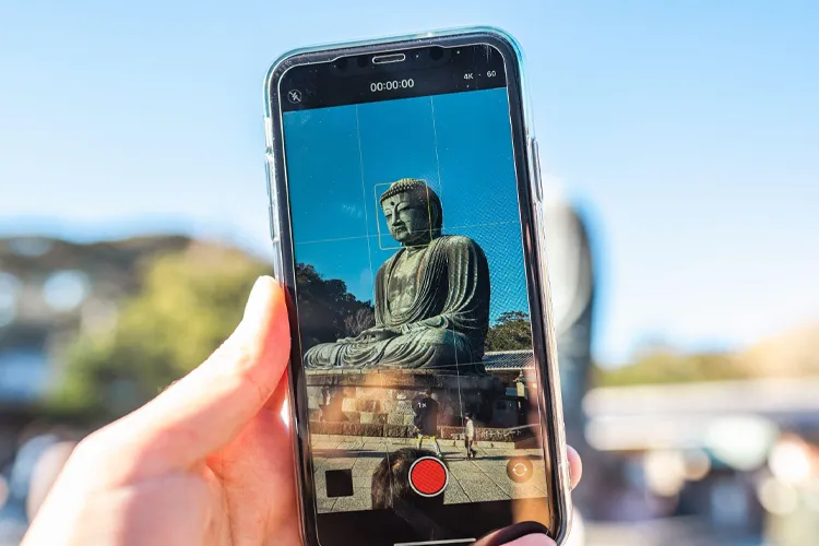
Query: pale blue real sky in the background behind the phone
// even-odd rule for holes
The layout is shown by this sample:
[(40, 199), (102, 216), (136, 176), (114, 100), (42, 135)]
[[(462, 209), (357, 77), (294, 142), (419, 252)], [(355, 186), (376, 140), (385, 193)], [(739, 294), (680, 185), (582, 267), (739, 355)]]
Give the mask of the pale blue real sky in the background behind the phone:
[(598, 359), (748, 346), (819, 314), (818, 21), (810, 0), (2, 2), (0, 234), (266, 253), (270, 62), (492, 24), (526, 51), (544, 170), (595, 225)]

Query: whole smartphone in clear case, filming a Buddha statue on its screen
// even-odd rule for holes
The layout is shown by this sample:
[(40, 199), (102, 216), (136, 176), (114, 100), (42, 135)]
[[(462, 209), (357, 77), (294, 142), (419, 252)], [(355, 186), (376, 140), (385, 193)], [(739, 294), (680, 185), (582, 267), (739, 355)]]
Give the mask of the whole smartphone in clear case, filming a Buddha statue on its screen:
[(569, 474), (522, 55), (501, 31), (289, 52), (264, 86), (302, 537), (468, 544)]

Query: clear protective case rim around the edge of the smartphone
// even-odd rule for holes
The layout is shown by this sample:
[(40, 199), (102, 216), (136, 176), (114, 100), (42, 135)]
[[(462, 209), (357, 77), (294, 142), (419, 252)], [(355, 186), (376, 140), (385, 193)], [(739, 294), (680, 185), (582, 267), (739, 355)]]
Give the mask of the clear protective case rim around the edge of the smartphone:
[[(282, 135), (282, 111), (280, 108), (281, 90), (278, 82), (282, 75), (292, 67), (310, 64), (317, 62), (331, 61), (341, 56), (364, 55), (364, 54), (384, 54), (390, 50), (407, 49), (412, 47), (422, 47), (430, 45), (468, 45), (486, 41), (502, 43), (508, 49), (514, 52), (515, 59), (505, 59), (507, 67), (513, 67), (515, 71), (517, 85), (520, 91), (521, 104), (519, 105), (522, 112), (523, 129), (523, 156), (515, 157), (515, 163), (522, 163), (525, 166), (526, 178), (530, 190), (530, 209), (521, 211), (522, 216), (530, 216), (530, 225), (533, 226), (531, 234), (532, 240), (524, 241), (530, 251), (535, 254), (535, 270), (537, 284), (539, 286), (541, 306), (539, 319), (543, 323), (545, 333), (545, 354), (546, 363), (538, 363), (537, 373), (539, 383), (548, 396), (541, 396), (542, 412), (546, 413), (546, 423), (551, 426), (545, 435), (545, 446), (548, 446), (548, 452), (545, 453), (547, 461), (550, 461), (550, 477), (554, 487), (553, 498), (556, 501), (556, 511), (559, 514), (557, 529), (553, 530), (554, 538), (558, 544), (563, 544), (568, 537), (571, 520), (571, 478), (569, 474), (569, 461), (567, 456), (566, 435), (563, 429), (562, 401), (560, 393), (560, 379), (558, 372), (557, 342), (554, 331), (554, 321), (551, 316), (551, 298), (546, 264), (546, 249), (544, 236), (544, 204), (543, 204), (543, 181), (541, 178), (541, 167), (538, 159), (537, 142), (534, 134), (534, 123), (532, 119), (532, 108), (530, 105), (529, 85), (526, 82), (523, 67), (523, 51), (517, 40), (506, 32), (495, 27), (464, 27), (454, 29), (441, 29), (435, 32), (418, 33), (404, 36), (389, 36), (366, 40), (336, 43), (327, 45), (317, 45), (295, 49), (281, 56), (271, 66), (264, 78), (264, 134), (265, 134), (265, 166), (268, 176), (268, 192), (270, 204), (270, 232), (273, 244), (273, 266), (275, 278), (285, 285), (293, 293), (293, 242), (289, 230), (289, 212), (288, 212), (288, 189), (285, 159), (283, 153)], [(511, 98), (511, 97), (510, 97)], [(515, 149), (517, 150), (517, 149)], [(524, 239), (526, 236), (524, 236)], [(534, 313), (534, 310), (533, 310)], [(293, 317), (293, 313), (292, 313)], [(298, 324), (292, 318), (292, 328), (297, 331)], [(297, 406), (299, 385), (299, 373), (302, 370), (292, 372), (290, 377), (290, 423), (296, 440), (295, 458), (299, 476), (299, 511), (305, 539), (311, 544), (309, 538), (309, 525), (312, 515), (305, 510), (302, 491), (305, 487), (312, 487), (309, 478), (309, 472), (304, 472), (304, 465), (310, 464), (309, 456), (305, 452), (305, 446), (309, 444), (309, 430), (304, 411)], [(294, 395), (295, 394), (295, 395)], [(548, 400), (543, 400), (543, 399)], [(313, 535), (314, 536), (314, 535)]]

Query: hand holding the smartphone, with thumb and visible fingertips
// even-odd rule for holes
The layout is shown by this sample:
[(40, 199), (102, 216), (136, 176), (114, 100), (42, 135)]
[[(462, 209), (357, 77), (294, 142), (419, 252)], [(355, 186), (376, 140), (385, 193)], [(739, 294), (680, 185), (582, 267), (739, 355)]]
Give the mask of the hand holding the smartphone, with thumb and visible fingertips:
[[(80, 442), (22, 546), (300, 544), (282, 418), (289, 343), (284, 294), (261, 277), (241, 323), (205, 363)], [(569, 460), (577, 484), (571, 449)], [(508, 538), (503, 531), (482, 541)]]

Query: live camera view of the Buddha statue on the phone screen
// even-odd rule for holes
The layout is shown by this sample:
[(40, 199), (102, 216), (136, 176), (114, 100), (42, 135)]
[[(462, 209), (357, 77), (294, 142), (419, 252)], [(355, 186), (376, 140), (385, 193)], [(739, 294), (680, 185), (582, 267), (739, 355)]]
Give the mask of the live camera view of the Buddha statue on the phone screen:
[[(319, 514), (546, 502), (509, 100), (492, 75), (284, 112)], [(341, 471), (352, 483), (331, 479)]]

